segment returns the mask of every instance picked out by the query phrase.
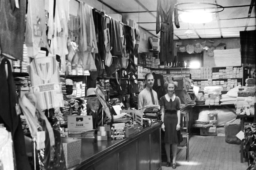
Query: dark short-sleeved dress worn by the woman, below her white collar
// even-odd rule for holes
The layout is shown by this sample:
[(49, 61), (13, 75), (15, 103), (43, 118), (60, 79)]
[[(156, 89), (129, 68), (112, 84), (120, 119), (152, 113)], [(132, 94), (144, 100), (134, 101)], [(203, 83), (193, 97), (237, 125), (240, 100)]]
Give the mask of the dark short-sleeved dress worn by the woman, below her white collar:
[(165, 96), (160, 98), (160, 106), (165, 106), (165, 138), (166, 144), (178, 144), (182, 141), (181, 131), (176, 130), (178, 123), (177, 110), (181, 109), (181, 100), (178, 96), (175, 97), (174, 101), (170, 99), (168, 102)]

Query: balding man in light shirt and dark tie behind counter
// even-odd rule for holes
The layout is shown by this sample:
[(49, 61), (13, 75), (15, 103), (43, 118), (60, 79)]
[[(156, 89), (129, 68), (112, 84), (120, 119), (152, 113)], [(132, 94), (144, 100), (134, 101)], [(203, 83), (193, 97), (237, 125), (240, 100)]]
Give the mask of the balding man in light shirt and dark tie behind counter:
[(138, 97), (138, 109), (143, 109), (146, 105), (158, 105), (157, 92), (152, 89), (154, 85), (154, 76), (151, 73), (145, 76), (146, 88), (144, 88)]

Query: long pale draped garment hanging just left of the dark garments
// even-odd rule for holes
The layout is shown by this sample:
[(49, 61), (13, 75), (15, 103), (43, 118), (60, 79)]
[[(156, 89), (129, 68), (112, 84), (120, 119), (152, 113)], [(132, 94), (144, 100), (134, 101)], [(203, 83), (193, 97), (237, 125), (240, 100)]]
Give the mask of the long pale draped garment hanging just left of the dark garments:
[(95, 53), (98, 53), (98, 47), (92, 9), (83, 2), (80, 2), (79, 5), (79, 21), (79, 49), (81, 54), (78, 63), (82, 65), (84, 70), (97, 71)]

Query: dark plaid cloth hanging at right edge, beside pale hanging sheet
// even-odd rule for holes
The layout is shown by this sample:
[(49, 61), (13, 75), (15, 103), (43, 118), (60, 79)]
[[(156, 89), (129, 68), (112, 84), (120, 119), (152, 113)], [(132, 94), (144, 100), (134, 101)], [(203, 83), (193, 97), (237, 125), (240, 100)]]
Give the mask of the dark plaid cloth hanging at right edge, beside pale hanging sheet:
[(256, 30), (240, 31), (241, 61), (244, 66), (255, 67), (255, 32)]

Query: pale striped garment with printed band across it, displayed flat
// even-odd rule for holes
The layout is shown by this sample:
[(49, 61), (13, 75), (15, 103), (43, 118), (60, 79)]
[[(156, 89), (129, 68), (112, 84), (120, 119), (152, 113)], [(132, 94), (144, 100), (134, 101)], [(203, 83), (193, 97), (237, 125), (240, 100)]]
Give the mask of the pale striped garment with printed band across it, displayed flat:
[(63, 107), (59, 66), (54, 57), (35, 58), (30, 64), (31, 90), (41, 109)]

